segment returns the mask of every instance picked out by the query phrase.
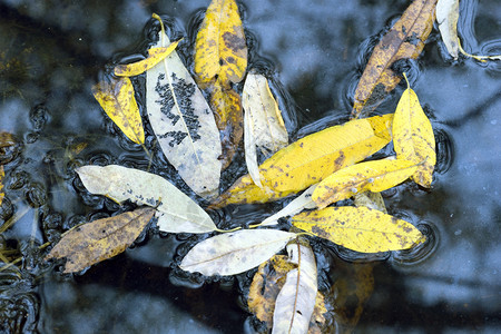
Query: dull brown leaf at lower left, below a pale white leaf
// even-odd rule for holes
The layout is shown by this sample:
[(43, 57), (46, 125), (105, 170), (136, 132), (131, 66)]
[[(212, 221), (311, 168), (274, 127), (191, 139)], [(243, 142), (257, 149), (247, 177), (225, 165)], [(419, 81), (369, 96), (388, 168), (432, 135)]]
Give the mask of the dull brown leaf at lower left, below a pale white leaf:
[(66, 257), (65, 273), (73, 273), (124, 252), (148, 225), (155, 214), (150, 207), (84, 224), (62, 237), (49, 258)]

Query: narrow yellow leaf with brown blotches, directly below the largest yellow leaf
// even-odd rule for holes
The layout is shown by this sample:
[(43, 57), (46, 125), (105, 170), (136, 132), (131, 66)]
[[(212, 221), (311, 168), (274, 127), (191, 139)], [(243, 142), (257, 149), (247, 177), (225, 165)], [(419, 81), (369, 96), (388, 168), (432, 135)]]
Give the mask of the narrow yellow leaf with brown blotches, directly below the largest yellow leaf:
[(363, 191), (383, 191), (407, 179), (418, 166), (407, 160), (374, 160), (340, 169), (322, 180), (313, 193), (318, 208)]

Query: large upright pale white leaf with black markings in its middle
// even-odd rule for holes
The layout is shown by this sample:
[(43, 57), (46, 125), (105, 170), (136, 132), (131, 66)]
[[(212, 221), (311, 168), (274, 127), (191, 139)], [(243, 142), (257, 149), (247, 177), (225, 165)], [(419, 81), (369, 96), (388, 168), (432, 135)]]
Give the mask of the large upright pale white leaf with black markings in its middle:
[[(163, 33), (153, 47), (168, 45)], [(219, 130), (176, 51), (146, 71), (146, 109), (161, 150), (180, 177), (198, 195), (216, 196), (222, 168)]]

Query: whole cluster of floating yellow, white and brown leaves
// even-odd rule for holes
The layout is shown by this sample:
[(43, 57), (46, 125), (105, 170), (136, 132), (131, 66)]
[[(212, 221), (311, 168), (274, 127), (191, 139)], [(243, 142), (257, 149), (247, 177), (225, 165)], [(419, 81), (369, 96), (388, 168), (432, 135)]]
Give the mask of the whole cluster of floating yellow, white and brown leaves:
[[(273, 226), (292, 216), (294, 227), (291, 232), (220, 230), (200, 206), (160, 176), (115, 165), (84, 166), (77, 173), (90, 193), (147, 208), (79, 226), (68, 232), (47, 258), (66, 257), (65, 272), (81, 271), (125, 250), (155, 216), (163, 232), (222, 233), (188, 252), (180, 263), (185, 271), (235, 275), (259, 266), (250, 287), (249, 310), (273, 323), (274, 333), (306, 333), (315, 326), (313, 320), (321, 324), (325, 306), (306, 235), (363, 253), (406, 249), (424, 242), (412, 224), (386, 214), (380, 195), (406, 179), (431, 186), (435, 140), (418, 96), (407, 87), (394, 114), (360, 117), (375, 108), (369, 102), (374, 91), (383, 88), (390, 92), (401, 81), (391, 63), (421, 53), (435, 4), (436, 0), (413, 1), (375, 47), (355, 92), (352, 120), (291, 145), (267, 79), (247, 72), (246, 41), (235, 1), (214, 0), (206, 11), (196, 39), (196, 84), (175, 50), (178, 41), (169, 41), (161, 20), (154, 16), (160, 20), (161, 31), (148, 57), (117, 66), (116, 78), (95, 88), (96, 99), (130, 140), (144, 145), (129, 77), (146, 71), (149, 121), (165, 156), (186, 184), (212, 200), (210, 208), (265, 203), (304, 190), (281, 212), (252, 226)], [(454, 3), (450, 6), (455, 10)], [(455, 24), (456, 17), (449, 16), (449, 20)], [(240, 100), (234, 85), (244, 78)], [(208, 102), (200, 89), (208, 94)], [(242, 137), (248, 175), (218, 196), (220, 170), (232, 161)], [(363, 161), (391, 141), (395, 156)], [(258, 150), (273, 155), (259, 165)], [(356, 206), (330, 206), (351, 197)], [(288, 256), (275, 255), (284, 247)], [(276, 269), (264, 277), (264, 267), (272, 264)], [(259, 297), (263, 288), (272, 288), (266, 282), (278, 281), (273, 301)]]

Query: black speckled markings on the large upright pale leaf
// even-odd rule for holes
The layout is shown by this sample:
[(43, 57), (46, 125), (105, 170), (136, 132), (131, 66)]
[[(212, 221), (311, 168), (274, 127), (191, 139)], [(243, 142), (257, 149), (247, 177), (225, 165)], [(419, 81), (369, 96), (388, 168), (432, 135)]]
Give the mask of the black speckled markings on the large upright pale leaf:
[[(173, 97), (173, 94), (170, 92), (169, 84), (161, 85), (160, 80), (165, 79), (165, 75), (160, 73), (157, 78), (157, 85), (155, 86), (155, 91), (160, 97), (159, 99), (155, 100), (155, 102), (159, 104), (160, 111), (168, 118), (171, 119), (171, 125), (175, 126), (179, 119), (180, 116), (176, 112), (173, 112), (173, 109), (175, 108), (175, 100)], [(193, 141), (197, 141), (200, 139), (200, 135), (198, 134), (198, 129), (200, 128), (200, 122), (198, 120), (198, 116), (195, 115), (195, 108), (191, 104), (191, 98), (195, 95), (195, 85), (186, 82), (185, 79), (178, 78), (176, 73), (173, 73), (173, 88), (174, 92), (177, 98), (177, 105), (179, 106), (180, 112), (183, 114), (183, 118), (186, 122), (186, 127), (188, 128), (189, 136), (191, 137)], [(166, 138), (171, 137), (171, 140), (169, 141), (169, 146), (174, 147), (175, 145), (179, 145), (183, 143), (183, 139), (185, 139), (188, 136), (187, 132), (184, 131), (168, 131), (165, 135), (158, 136), (159, 138)]]

